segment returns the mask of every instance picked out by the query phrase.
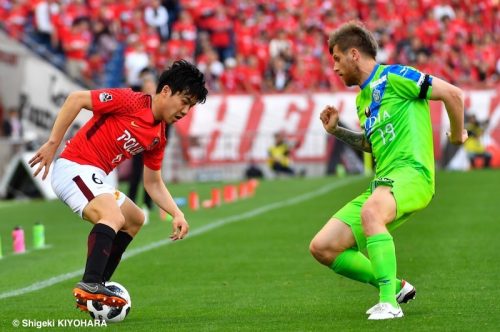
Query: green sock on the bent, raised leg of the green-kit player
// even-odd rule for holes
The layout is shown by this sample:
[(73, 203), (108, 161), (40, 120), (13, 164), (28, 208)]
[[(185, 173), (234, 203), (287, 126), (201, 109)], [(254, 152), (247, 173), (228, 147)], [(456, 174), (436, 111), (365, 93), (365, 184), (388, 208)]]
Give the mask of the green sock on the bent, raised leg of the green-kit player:
[(378, 288), (378, 282), (373, 276), (372, 263), (358, 250), (347, 249), (338, 255), (331, 269), (344, 277), (372, 284)]

